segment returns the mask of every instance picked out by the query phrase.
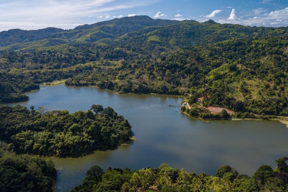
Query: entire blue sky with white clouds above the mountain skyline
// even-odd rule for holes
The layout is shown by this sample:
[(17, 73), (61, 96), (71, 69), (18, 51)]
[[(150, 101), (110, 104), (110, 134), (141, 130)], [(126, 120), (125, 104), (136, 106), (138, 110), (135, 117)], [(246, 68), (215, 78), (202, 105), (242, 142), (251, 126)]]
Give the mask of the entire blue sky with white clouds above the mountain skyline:
[(0, 31), (71, 29), (134, 15), (279, 27), (288, 26), (288, 0), (0, 0)]

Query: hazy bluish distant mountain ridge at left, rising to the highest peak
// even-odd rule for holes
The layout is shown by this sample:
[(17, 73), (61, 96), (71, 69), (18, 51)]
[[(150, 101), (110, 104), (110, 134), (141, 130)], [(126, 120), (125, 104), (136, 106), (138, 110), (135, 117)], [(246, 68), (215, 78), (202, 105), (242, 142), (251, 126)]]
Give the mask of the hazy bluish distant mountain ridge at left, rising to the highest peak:
[[(59, 28), (45, 28), (29, 31), (11, 29), (0, 32), (0, 47), (8, 46), (8, 49), (15, 50), (25, 48), (27, 45), (33, 45), (33, 43), (27, 43), (32, 41), (38, 41), (35, 42), (35, 44), (39, 46), (52, 46), (51, 43), (50, 45), (46, 45), (45, 43), (47, 43), (47, 41), (54, 42), (54, 39), (56, 39), (59, 44), (65, 44), (68, 42), (63, 41), (64, 39), (68, 39), (74, 43), (94, 42), (102, 38), (119, 37), (125, 33), (149, 26), (164, 26), (173, 23), (178, 23), (178, 21), (161, 19), (154, 20), (148, 16), (134, 16), (124, 17), (121, 19), (117, 18), (90, 25), (81, 25), (71, 30), (63, 30)], [(39, 41), (43, 39), (46, 39), (46, 41)], [(18, 44), (9, 46), (15, 43)], [(19, 43), (26, 44), (20, 46)]]

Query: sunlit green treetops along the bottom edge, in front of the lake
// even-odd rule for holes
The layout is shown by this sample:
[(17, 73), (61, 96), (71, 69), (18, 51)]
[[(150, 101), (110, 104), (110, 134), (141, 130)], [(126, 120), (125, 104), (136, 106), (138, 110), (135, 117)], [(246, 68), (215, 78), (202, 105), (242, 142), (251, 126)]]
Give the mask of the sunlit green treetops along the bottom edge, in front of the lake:
[(162, 164), (159, 168), (130, 169), (108, 168), (105, 172), (99, 166), (93, 166), (86, 172), (82, 185), (76, 186), (73, 192), (88, 191), (287, 191), (288, 166), (287, 157), (276, 160), (277, 168), (262, 165), (253, 177), (239, 174), (229, 165), (221, 166), (216, 176), (177, 170)]

